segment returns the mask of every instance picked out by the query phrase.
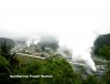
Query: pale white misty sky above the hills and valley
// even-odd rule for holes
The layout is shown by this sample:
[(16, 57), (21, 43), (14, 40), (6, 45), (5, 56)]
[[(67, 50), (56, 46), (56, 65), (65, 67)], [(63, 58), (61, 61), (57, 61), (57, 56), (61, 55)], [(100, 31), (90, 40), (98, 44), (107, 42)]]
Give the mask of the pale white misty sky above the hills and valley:
[(109, 29), (109, 0), (0, 0), (0, 36), (53, 34), (79, 53)]

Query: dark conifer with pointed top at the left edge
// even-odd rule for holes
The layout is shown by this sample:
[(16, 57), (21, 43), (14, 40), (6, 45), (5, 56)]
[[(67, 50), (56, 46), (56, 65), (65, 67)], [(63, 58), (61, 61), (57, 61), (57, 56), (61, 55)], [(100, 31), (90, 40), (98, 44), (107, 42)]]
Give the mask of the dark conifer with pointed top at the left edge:
[[(15, 53), (11, 54), (11, 46), (7, 42), (2, 42), (0, 45), (0, 83), (6, 84), (19, 84), (20, 80), (10, 78), (10, 74), (16, 70), (19, 61), (15, 57)], [(16, 82), (18, 81), (18, 82)], [(16, 82), (16, 83), (15, 83)]]

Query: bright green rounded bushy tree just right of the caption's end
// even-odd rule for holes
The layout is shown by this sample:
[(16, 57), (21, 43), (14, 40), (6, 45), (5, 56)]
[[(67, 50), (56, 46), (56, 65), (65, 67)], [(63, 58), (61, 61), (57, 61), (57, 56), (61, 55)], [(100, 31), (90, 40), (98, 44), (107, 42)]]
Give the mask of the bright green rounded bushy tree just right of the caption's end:
[(78, 76), (72, 65), (62, 57), (50, 57), (45, 65), (44, 74), (52, 74), (54, 84), (79, 84)]

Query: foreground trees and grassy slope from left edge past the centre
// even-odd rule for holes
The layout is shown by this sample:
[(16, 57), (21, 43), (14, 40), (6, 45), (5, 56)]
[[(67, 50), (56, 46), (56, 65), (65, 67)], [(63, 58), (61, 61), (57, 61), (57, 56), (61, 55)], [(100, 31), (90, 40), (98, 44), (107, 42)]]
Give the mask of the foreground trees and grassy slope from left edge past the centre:
[[(78, 83), (78, 77), (74, 73), (70, 64), (61, 57), (48, 57), (46, 60), (32, 60), (23, 62), (10, 53), (10, 45), (6, 42), (0, 48), (0, 83), (10, 84), (74, 84)], [(55, 55), (54, 55), (55, 56)], [(19, 63), (20, 61), (20, 63)], [(51, 77), (28, 77), (28, 78), (12, 78), (10, 75), (51, 75)]]

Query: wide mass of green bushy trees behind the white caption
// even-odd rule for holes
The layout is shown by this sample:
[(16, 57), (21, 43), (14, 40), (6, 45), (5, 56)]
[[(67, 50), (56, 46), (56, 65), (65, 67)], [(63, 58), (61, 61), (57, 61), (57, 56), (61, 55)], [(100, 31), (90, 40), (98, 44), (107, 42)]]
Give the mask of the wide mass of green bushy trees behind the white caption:
[(48, 57), (42, 62), (33, 62), (22, 67), (20, 72), (31, 75), (52, 75), (52, 77), (22, 78), (23, 84), (80, 84), (72, 65), (61, 57)]

